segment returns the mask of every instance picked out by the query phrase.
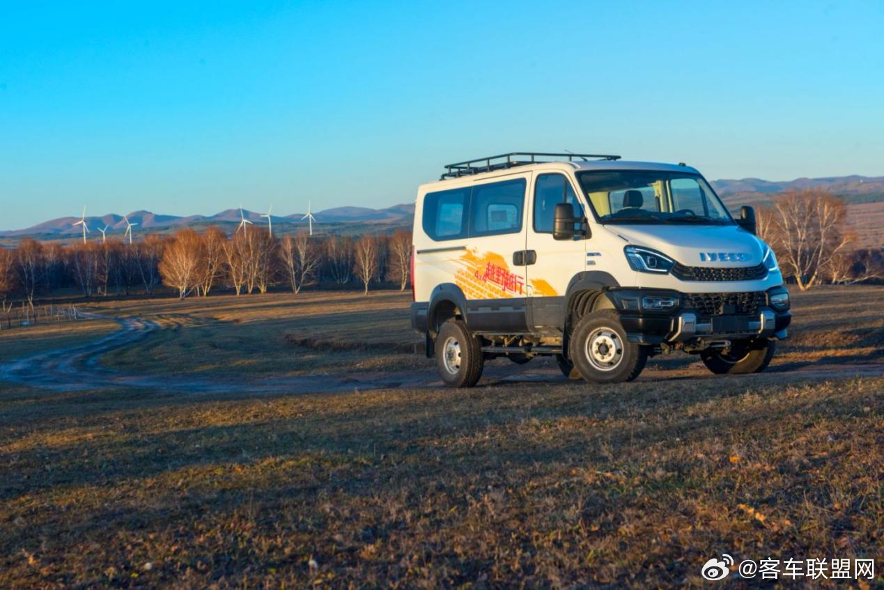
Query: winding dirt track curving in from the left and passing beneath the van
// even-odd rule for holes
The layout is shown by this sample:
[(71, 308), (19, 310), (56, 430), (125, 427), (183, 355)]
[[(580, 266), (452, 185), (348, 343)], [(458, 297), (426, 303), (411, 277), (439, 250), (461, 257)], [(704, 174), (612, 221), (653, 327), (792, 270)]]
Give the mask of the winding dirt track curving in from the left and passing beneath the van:
[[(94, 318), (105, 318), (89, 314)], [(0, 381), (43, 387), (57, 391), (76, 391), (109, 387), (148, 387), (164, 391), (181, 391), (191, 394), (306, 394), (345, 392), (368, 389), (399, 387), (441, 387), (441, 381), (431, 369), (412, 372), (348, 373), (334, 378), (327, 375), (263, 378), (232, 381), (230, 378), (191, 377), (182, 375), (145, 375), (112, 371), (103, 368), (99, 359), (113, 349), (132, 346), (157, 330), (163, 329), (155, 322), (143, 318), (110, 318), (120, 329), (76, 347), (54, 349), (11, 363), (0, 364)], [(884, 358), (878, 356), (867, 363), (812, 363), (805, 365), (773, 365), (762, 375), (779, 373), (796, 378), (826, 379), (833, 377), (884, 375)], [(759, 378), (762, 375), (743, 376), (742, 379)], [(705, 369), (679, 367), (646, 369), (638, 379), (713, 379)], [(719, 378), (720, 379), (720, 378)], [(563, 382), (558, 369), (549, 364), (516, 365), (508, 363), (487, 364), (483, 376), (486, 385), (503, 383), (555, 383)]]

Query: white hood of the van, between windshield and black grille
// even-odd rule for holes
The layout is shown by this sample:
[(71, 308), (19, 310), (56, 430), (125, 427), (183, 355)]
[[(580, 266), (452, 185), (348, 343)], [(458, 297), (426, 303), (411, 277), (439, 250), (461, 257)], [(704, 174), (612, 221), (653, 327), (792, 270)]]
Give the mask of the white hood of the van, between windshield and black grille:
[(765, 253), (765, 243), (740, 226), (608, 224), (604, 227), (633, 246), (658, 250), (687, 266), (754, 266)]

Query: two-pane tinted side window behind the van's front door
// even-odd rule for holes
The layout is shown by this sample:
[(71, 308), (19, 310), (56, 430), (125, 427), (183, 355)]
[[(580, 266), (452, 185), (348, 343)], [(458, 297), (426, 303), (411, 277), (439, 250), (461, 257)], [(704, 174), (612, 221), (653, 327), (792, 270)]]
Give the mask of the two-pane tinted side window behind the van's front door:
[(453, 188), (423, 197), (423, 232), (434, 241), (522, 231), (524, 179)]

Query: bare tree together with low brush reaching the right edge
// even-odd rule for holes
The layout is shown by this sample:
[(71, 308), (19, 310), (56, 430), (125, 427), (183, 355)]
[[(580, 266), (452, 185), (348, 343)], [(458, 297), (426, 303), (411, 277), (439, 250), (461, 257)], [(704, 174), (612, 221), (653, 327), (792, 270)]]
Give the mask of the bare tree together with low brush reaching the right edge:
[(842, 199), (818, 188), (789, 191), (757, 211), (758, 237), (770, 244), (784, 276), (804, 291), (820, 283), (884, 277), (881, 249), (854, 249)]

